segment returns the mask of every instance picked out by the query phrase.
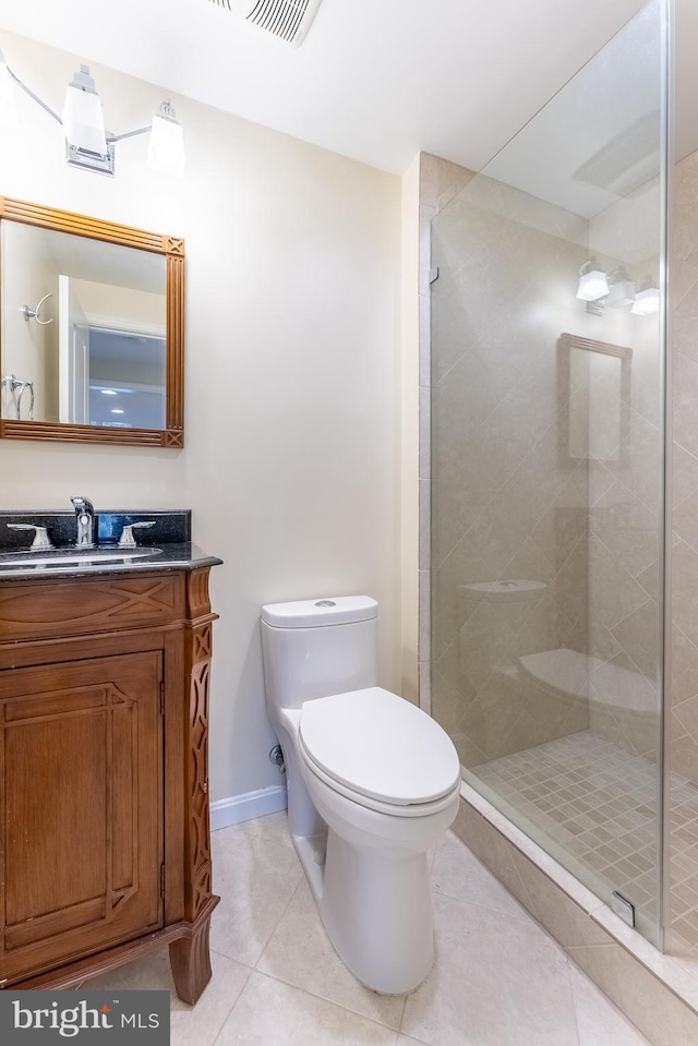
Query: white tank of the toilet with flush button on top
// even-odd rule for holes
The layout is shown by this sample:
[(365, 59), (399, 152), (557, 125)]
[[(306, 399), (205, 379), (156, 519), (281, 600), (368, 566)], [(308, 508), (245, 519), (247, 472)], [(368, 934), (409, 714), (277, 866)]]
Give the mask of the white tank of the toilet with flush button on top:
[(262, 608), (267, 706), (375, 686), (378, 604), (369, 596), (269, 603)]

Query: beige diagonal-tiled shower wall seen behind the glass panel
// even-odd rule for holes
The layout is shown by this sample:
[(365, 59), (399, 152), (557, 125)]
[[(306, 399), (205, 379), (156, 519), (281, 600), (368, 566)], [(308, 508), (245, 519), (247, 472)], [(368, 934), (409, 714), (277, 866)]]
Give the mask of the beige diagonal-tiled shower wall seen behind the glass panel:
[[(612, 244), (624, 263), (637, 261), (642, 244), (628, 245), (636, 216), (593, 226), (431, 156), (423, 205), (425, 226), (442, 215), (432, 232), (431, 366), (422, 368), (431, 384), (422, 389), (432, 440), (422, 591), (424, 603), (431, 591), (432, 711), (469, 768), (589, 726), (654, 759), (657, 324), (638, 324), (627, 309), (590, 315), (575, 298), (591, 238), (607, 270), (619, 263)], [(565, 457), (564, 332), (634, 353), (615, 466)], [(425, 342), (428, 334), (424, 325)], [(425, 441), (426, 425), (422, 433)], [(502, 579), (522, 580), (520, 593), (483, 594)], [(567, 695), (527, 674), (527, 658), (551, 651), (563, 651), (553, 669), (565, 671), (568, 650), (588, 659), (577, 659), (581, 675)]]

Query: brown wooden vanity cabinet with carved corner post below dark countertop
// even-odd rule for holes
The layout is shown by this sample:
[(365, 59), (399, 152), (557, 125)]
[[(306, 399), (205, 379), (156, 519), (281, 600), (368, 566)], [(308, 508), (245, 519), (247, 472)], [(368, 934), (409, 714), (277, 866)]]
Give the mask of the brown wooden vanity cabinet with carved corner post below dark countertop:
[(0, 985), (210, 977), (209, 567), (0, 582)]

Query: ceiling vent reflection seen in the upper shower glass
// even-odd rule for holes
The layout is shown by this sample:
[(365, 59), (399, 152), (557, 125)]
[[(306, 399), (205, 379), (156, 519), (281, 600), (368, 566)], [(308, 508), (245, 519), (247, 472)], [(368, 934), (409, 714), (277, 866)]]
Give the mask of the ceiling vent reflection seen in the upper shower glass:
[(599, 149), (573, 178), (625, 196), (659, 175), (660, 116), (648, 112)]

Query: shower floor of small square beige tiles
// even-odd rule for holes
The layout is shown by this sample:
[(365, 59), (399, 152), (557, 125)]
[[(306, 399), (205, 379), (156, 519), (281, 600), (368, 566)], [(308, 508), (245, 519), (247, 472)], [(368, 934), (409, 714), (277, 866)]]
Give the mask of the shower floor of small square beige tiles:
[[(585, 730), (492, 759), (468, 777), (501, 796), (515, 822), (525, 818), (528, 823), (521, 827), (537, 842), (547, 837), (544, 849), (602, 900), (610, 901), (618, 890), (631, 901), (638, 928), (655, 936), (655, 764)], [(698, 787), (677, 774), (672, 774), (671, 810), (673, 947), (696, 954)]]

